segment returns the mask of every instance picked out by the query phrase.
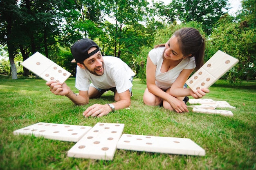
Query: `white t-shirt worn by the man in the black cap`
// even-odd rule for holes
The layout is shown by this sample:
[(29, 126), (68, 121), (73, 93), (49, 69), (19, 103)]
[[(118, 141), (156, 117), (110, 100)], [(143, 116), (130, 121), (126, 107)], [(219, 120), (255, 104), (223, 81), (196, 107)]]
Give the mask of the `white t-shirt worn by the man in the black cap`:
[(81, 91), (88, 91), (90, 81), (100, 89), (110, 89), (116, 87), (117, 93), (125, 92), (132, 87), (130, 78), (135, 73), (120, 58), (103, 56), (104, 74), (96, 76), (88, 72), (87, 69), (76, 67), (76, 88)]

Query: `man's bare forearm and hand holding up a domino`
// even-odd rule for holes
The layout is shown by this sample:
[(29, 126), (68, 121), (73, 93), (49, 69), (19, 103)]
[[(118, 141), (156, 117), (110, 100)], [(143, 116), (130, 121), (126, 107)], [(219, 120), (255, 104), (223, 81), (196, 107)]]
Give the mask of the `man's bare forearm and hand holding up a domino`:
[(53, 94), (67, 96), (76, 105), (85, 105), (89, 102), (88, 91), (79, 91), (79, 94), (75, 94), (66, 83), (55, 81), (47, 81), (46, 85)]

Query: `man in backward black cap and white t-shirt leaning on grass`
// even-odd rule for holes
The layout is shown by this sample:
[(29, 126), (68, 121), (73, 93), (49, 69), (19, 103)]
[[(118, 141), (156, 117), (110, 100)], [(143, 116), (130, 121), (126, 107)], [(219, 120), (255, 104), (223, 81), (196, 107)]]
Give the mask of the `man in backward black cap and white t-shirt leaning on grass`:
[[(115, 93), (115, 103), (94, 104), (88, 107), (83, 116), (101, 117), (114, 110), (130, 106), (132, 79), (135, 73), (121, 59), (102, 56), (99, 46), (89, 38), (78, 40), (71, 47), (76, 63), (76, 85), (79, 94), (72, 92), (66, 83), (48, 81), (52, 93), (67, 96), (76, 105), (85, 105), (89, 98), (99, 98), (104, 92)], [(92, 83), (90, 83), (90, 81)]]

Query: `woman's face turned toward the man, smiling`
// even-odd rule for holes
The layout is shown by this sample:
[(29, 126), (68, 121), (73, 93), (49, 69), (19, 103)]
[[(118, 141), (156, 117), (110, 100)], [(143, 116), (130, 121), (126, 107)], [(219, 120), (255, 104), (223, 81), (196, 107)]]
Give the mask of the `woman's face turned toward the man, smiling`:
[(183, 54), (180, 50), (180, 45), (175, 36), (172, 36), (165, 44), (164, 57), (170, 60), (180, 60)]

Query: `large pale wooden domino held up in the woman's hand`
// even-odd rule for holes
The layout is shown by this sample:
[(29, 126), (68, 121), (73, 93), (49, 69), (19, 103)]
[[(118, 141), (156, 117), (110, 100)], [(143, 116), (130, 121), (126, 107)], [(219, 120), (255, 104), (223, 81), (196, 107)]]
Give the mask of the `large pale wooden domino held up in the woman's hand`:
[(219, 50), (186, 81), (186, 84), (194, 92), (201, 88), (209, 88), (236, 63), (238, 59)]

